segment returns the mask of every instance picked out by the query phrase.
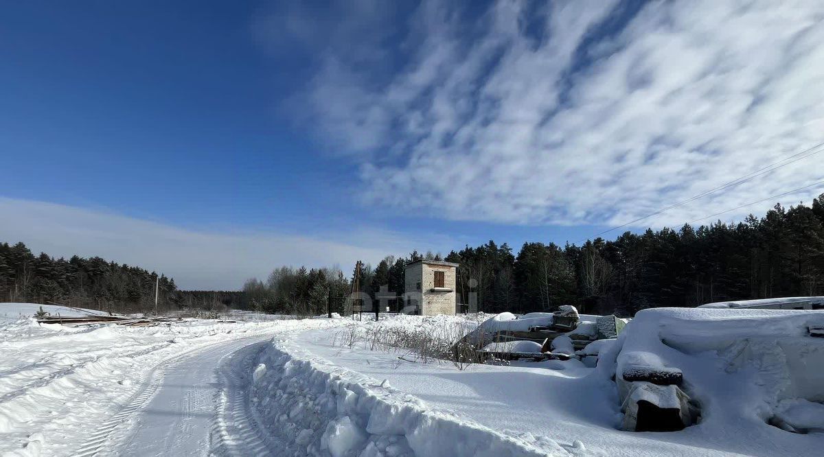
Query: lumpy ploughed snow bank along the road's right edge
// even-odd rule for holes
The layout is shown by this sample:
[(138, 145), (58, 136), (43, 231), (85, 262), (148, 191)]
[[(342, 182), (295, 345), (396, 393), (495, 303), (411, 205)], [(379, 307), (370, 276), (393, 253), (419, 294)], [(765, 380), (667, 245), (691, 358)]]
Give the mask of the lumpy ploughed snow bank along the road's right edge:
[(291, 455), (569, 455), (545, 437), (506, 436), (433, 411), (285, 341), (274, 342), (259, 362), (269, 369), (253, 388), (255, 407)]

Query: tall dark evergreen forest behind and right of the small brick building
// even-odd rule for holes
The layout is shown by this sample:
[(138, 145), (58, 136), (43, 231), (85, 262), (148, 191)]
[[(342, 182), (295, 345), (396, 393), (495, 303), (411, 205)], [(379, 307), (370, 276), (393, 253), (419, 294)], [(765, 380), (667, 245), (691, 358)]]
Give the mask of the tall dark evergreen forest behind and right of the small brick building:
[[(515, 254), (490, 240), (444, 257), (417, 251), (387, 256), (364, 268), (360, 290), (404, 293), (405, 263), (417, 259), (460, 263), (458, 301), (470, 303), (474, 294), (477, 310), (490, 313), (575, 305), (593, 314), (634, 315), (661, 306), (824, 295), (824, 194), (810, 206), (777, 204), (743, 222), (626, 231), (616, 240), (580, 246), (527, 242)], [(301, 304), (322, 314), (330, 291), (338, 295), (350, 287), (339, 269), (280, 268), (268, 282), (250, 280), (244, 291), (267, 310)]]

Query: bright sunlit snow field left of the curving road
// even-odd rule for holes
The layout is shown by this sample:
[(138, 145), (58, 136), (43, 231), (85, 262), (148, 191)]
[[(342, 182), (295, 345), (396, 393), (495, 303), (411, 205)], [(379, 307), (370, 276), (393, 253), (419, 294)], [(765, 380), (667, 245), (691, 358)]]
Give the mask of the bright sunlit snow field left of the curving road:
[(223, 343), (330, 325), (328, 319), (190, 319), (158, 327), (71, 328), (20, 317), (33, 315), (38, 304), (3, 303), (0, 309), (0, 455), (75, 455), (101, 424), (152, 385), (165, 364)]

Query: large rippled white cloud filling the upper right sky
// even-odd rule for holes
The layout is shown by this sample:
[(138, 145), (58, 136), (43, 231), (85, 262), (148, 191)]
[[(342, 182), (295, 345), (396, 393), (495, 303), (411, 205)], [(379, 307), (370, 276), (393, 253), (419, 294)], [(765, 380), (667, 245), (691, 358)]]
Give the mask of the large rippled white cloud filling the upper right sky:
[[(357, 154), (366, 202), (510, 223), (626, 222), (824, 141), (824, 3), (650, 2), (585, 46), (614, 7), (499, 2), (466, 21), (424, 2), (408, 61), (383, 78), (335, 35), (309, 86), (313, 122)], [(593, 61), (579, 68), (582, 52)], [(824, 152), (642, 225), (824, 180), (822, 163)]]

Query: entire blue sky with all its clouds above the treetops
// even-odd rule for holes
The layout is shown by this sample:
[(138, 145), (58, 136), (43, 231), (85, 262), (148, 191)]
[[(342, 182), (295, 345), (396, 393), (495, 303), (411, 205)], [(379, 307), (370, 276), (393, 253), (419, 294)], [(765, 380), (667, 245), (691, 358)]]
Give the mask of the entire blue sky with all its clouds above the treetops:
[(716, 3), (13, 2), (0, 237), (203, 288), (578, 241), (824, 141), (822, 7)]

